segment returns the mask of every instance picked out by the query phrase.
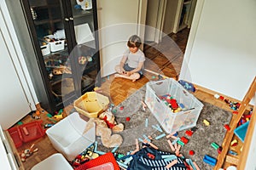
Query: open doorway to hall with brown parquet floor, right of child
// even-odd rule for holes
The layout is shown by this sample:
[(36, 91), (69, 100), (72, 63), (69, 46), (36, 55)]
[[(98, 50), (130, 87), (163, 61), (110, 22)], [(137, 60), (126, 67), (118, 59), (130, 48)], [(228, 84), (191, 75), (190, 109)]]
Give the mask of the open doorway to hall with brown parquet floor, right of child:
[(144, 53), (146, 69), (178, 78), (197, 0), (148, 0)]

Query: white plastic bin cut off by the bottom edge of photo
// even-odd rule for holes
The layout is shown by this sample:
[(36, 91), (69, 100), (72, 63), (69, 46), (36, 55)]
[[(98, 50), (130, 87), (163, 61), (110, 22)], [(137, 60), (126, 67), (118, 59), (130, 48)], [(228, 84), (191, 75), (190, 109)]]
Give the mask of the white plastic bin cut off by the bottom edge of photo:
[(32, 170), (73, 170), (73, 167), (67, 162), (64, 156), (56, 153), (49, 156), (44, 161), (39, 162), (32, 167)]

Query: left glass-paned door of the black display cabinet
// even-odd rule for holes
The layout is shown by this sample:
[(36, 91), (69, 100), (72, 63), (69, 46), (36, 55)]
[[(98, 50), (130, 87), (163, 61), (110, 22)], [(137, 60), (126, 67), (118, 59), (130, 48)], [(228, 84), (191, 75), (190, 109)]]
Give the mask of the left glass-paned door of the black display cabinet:
[(38, 44), (44, 59), (45, 77), (49, 79), (49, 93), (61, 105), (63, 98), (74, 93), (73, 69), (68, 49), (67, 23), (63, 4), (59, 0), (29, 0)]

